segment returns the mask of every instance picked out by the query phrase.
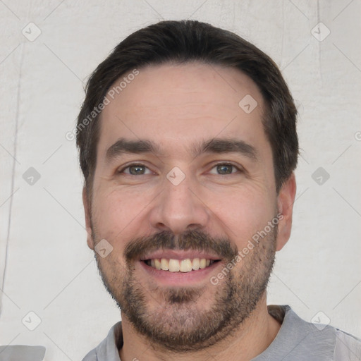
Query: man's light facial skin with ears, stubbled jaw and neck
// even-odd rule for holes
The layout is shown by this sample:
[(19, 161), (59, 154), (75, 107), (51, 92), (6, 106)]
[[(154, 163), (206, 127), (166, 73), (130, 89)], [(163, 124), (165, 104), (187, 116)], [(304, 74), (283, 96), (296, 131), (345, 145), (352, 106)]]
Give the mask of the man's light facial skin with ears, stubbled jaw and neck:
[[(247, 94), (258, 103), (250, 114), (238, 106)], [(95, 255), (122, 310), (122, 361), (250, 360), (279, 331), (267, 313), (265, 287), (274, 253), (290, 236), (295, 177), (276, 194), (262, 111), (257, 86), (240, 71), (188, 63), (141, 68), (102, 112), (92, 200), (84, 190), (83, 201), (87, 244), (94, 250), (106, 239), (113, 247), (104, 258)], [(157, 149), (107, 158), (119, 139), (150, 141)], [(257, 157), (195, 152), (212, 139), (246, 142)], [(142, 164), (145, 173), (127, 173), (130, 164)], [(217, 164), (235, 167), (218, 174)], [(178, 185), (166, 178), (175, 166), (185, 176)], [(278, 213), (278, 227), (212, 284), (211, 276)], [(163, 283), (138, 260), (157, 245), (212, 252), (221, 262), (189, 284)]]

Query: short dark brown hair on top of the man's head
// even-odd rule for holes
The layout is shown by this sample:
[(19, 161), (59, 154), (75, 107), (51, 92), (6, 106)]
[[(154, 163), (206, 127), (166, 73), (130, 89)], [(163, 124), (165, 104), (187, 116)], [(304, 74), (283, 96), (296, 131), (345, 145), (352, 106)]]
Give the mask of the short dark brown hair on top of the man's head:
[(279, 192), (298, 161), (297, 110), (279, 68), (267, 54), (233, 32), (196, 20), (181, 20), (161, 21), (133, 32), (90, 76), (76, 128), (88, 194), (97, 159), (101, 114), (98, 106), (111, 85), (122, 75), (144, 66), (195, 61), (236, 68), (256, 83), (264, 99), (262, 123), (272, 149)]

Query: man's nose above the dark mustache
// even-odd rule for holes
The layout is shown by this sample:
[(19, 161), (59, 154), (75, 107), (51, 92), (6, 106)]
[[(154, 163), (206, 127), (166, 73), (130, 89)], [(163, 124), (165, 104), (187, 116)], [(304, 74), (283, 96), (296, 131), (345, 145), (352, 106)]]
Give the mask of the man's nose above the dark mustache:
[(178, 185), (165, 179), (164, 188), (150, 211), (152, 227), (173, 234), (204, 228), (210, 211), (197, 193), (197, 186), (188, 177)]

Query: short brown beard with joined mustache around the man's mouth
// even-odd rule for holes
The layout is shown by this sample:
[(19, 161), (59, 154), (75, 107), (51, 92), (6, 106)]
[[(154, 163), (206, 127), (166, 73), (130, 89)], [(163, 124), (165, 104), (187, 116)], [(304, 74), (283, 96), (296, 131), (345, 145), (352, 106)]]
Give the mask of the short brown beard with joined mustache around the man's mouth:
[[(94, 231), (92, 226), (93, 240), (100, 240)], [(125, 263), (119, 261), (115, 252), (104, 259), (97, 252), (94, 255), (106, 290), (135, 331), (145, 336), (153, 348), (188, 353), (231, 336), (250, 317), (267, 288), (276, 238), (277, 225), (239, 262), (235, 262), (238, 248), (231, 240), (212, 238), (202, 231), (178, 236), (163, 231), (130, 240), (124, 250)], [(134, 264), (147, 252), (162, 248), (210, 251), (219, 255), (223, 270), (232, 261), (235, 267), (227, 269), (224, 279), (216, 285), (209, 282), (202, 287), (144, 286), (135, 274)], [(204, 297), (207, 301), (213, 299), (208, 307), (204, 307)]]

